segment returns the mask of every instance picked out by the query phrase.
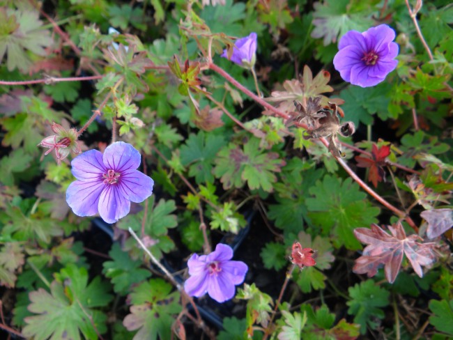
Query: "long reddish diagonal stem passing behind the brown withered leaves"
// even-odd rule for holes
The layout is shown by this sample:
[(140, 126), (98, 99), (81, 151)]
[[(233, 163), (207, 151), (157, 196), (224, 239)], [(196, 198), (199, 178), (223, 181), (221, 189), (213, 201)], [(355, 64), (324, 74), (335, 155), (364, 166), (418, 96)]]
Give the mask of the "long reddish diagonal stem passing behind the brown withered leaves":
[[(213, 71), (217, 72), (219, 75), (221, 75), (222, 77), (227, 79), (231, 84), (236, 86), (236, 88), (238, 88), (240, 91), (243, 91), (243, 93), (248, 95), (250, 98), (252, 98), (255, 102), (259, 103), (264, 108), (269, 109), (270, 111), (274, 112), (275, 114), (277, 114), (277, 116), (280, 116), (280, 117), (285, 118), (285, 119), (289, 118), (289, 116), (287, 114), (285, 114), (282, 111), (279, 111), (279, 109), (277, 109), (276, 107), (273, 107), (272, 105), (270, 105), (268, 102), (266, 102), (262, 98), (259, 98), (252, 91), (249, 91), (248, 88), (245, 88), (245, 86), (243, 86), (238, 81), (236, 81), (236, 79), (231, 77), (231, 75), (229, 75), (227, 72), (225, 72), (222, 68), (218, 67), (217, 65), (215, 65), (213, 63), (208, 64), (208, 67), (210, 68), (210, 70), (213, 70)], [(307, 125), (305, 125), (305, 124), (298, 123), (296, 125), (298, 125), (300, 127), (304, 127), (305, 129), (308, 128)], [(328, 141), (325, 140), (325, 138), (320, 138), (320, 140), (326, 147), (328, 147), (329, 143), (328, 143)], [(335, 155), (334, 155), (334, 157), (335, 157)], [(383, 199), (383, 197), (381, 195), (379, 195), (377, 192), (372, 190), (371, 187), (369, 187), (366, 183), (364, 183), (363, 180), (361, 180), (360, 177), (357, 176), (355, 174), (355, 172), (348, 166), (348, 164), (346, 164), (346, 162), (344, 162), (344, 160), (342, 160), (339, 157), (335, 157), (335, 158), (337, 159), (337, 161), (339, 162), (341, 167), (343, 167), (346, 170), (346, 172), (349, 174), (349, 176), (351, 176), (353, 178), (353, 180), (355, 180), (355, 182), (357, 182), (358, 185), (360, 185), (360, 187), (362, 187), (363, 190), (365, 190), (366, 192), (368, 192), (368, 194), (373, 196), (374, 199), (376, 199), (376, 201), (378, 201), (383, 206), (385, 206), (385, 208), (388, 208), (392, 212), (394, 212), (398, 217), (406, 219), (406, 222), (408, 222), (408, 224), (415, 231), (418, 230), (417, 226), (415, 225), (413, 220), (410, 219), (410, 217), (407, 216), (406, 212), (399, 210), (398, 208), (392, 206), (391, 203), (385, 201), (385, 199)]]

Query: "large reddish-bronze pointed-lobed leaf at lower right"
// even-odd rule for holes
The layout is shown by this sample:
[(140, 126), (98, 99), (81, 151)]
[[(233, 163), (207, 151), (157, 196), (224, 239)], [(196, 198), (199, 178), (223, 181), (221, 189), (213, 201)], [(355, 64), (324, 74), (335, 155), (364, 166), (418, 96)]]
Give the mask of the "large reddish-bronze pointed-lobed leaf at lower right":
[(431, 265), (436, 261), (436, 253), (433, 251), (435, 244), (417, 242), (422, 240), (417, 235), (406, 236), (400, 223), (388, 226), (388, 229), (391, 235), (376, 224), (371, 224), (371, 229), (354, 230), (355, 238), (366, 243), (367, 247), (363, 255), (355, 261), (353, 272), (372, 277), (376, 275), (380, 265), (385, 265), (385, 277), (393, 283), (401, 268), (403, 255), (406, 254), (414, 271), (422, 277), (422, 265)]

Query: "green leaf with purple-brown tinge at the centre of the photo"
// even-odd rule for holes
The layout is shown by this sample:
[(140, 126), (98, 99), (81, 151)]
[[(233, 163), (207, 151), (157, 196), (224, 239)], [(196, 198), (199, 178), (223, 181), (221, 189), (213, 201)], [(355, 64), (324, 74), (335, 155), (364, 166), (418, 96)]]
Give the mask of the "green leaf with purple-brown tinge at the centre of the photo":
[(214, 174), (220, 178), (225, 190), (242, 187), (247, 182), (251, 190), (261, 188), (272, 192), (272, 183), (277, 181), (275, 172), (286, 163), (277, 153), (263, 153), (259, 150), (259, 143), (259, 139), (251, 138), (243, 148), (230, 143), (220, 150)]

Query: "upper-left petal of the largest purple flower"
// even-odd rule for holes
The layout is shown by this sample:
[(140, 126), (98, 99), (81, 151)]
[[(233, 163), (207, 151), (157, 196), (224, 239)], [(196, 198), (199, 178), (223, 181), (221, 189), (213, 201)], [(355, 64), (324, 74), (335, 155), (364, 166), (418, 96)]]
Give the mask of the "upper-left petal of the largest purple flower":
[(78, 155), (72, 160), (71, 167), (72, 175), (78, 180), (100, 179), (104, 173), (107, 173), (102, 162), (102, 153), (98, 150), (89, 150)]

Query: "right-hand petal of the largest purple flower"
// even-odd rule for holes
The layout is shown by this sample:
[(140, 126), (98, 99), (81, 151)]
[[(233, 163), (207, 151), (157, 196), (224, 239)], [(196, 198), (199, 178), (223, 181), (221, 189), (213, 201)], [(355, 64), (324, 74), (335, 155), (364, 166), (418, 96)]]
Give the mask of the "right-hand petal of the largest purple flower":
[(153, 194), (154, 180), (138, 170), (122, 171), (118, 189), (131, 202), (140, 203)]

